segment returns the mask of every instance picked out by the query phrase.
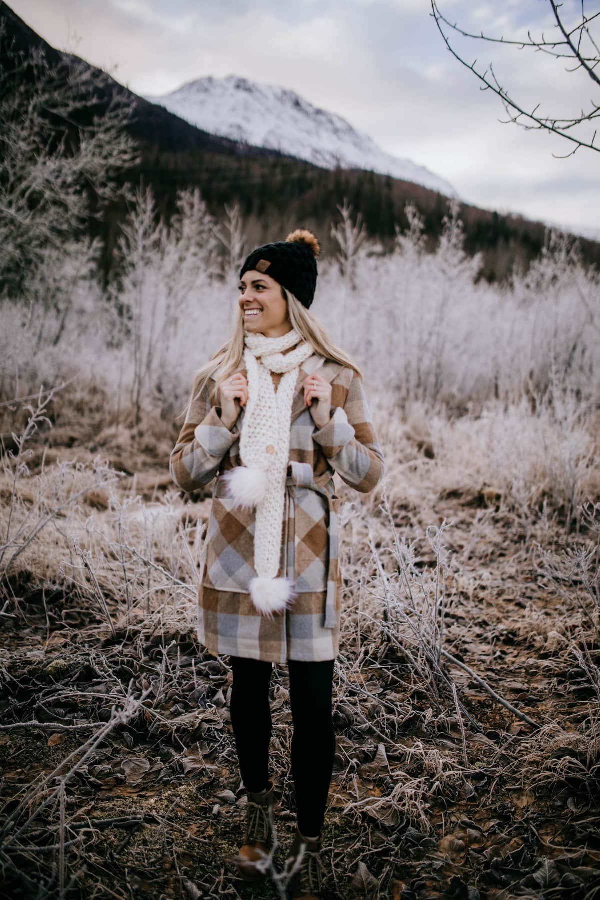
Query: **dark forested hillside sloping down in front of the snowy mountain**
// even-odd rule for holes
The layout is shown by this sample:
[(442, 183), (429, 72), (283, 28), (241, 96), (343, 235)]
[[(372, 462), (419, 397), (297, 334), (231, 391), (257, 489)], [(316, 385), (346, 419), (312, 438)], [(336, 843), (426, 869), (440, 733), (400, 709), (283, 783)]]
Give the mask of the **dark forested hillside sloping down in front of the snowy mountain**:
[[(4, 47), (19, 52), (39, 48), (50, 63), (64, 59), (40, 35), (32, 31), (7, 4), (0, 4)], [(74, 61), (76, 57), (71, 57)], [(112, 91), (126, 91), (113, 79), (104, 98), (94, 98), (93, 112), (101, 112)], [(131, 92), (127, 92), (131, 94)], [(334, 248), (330, 223), (339, 219), (337, 205), (346, 198), (363, 216), (372, 238), (390, 247), (396, 226), (407, 228), (408, 202), (425, 217), (425, 235), (431, 249), (436, 246), (448, 211), (448, 198), (420, 184), (357, 168), (328, 169), (286, 156), (275, 149), (254, 147), (218, 137), (179, 118), (164, 107), (135, 98), (136, 116), (130, 122), (132, 137), (139, 141), (139, 166), (129, 170), (126, 180), (151, 186), (157, 208), (168, 219), (175, 210), (176, 191), (199, 187), (210, 211), (219, 218), (225, 203), (239, 202), (246, 218), (250, 242), (273, 239), (273, 235), (302, 225), (318, 231), (324, 257)], [(92, 107), (92, 104), (91, 104)], [(92, 108), (89, 114), (92, 114)], [(90, 233), (103, 239), (103, 269), (108, 275), (113, 250), (127, 213), (124, 203), (103, 210), (100, 220), (91, 220)], [(529, 266), (544, 246), (546, 226), (520, 216), (499, 215), (462, 203), (465, 249), (482, 252), (482, 276), (502, 280), (515, 263)], [(600, 244), (581, 238), (584, 262), (600, 265)]]

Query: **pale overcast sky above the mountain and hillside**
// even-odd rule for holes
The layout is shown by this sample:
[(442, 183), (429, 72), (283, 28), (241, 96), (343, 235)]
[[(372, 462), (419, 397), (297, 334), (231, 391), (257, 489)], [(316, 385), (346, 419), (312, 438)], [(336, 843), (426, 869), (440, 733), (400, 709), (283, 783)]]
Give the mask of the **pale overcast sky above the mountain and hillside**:
[[(557, 34), (548, 0), (439, 0), (466, 31)], [(137, 94), (201, 76), (239, 75), (291, 88), (342, 115), (399, 157), (427, 166), (487, 209), (600, 232), (600, 153), (502, 124), (499, 98), (446, 49), (429, 0), (9, 0), (58, 49), (110, 71)], [(579, 0), (564, 0), (575, 20)], [(502, 14), (498, 15), (498, 9)], [(587, 15), (600, 9), (588, 0)], [(569, 24), (569, 22), (568, 22)], [(600, 39), (600, 27), (596, 29)], [(585, 73), (528, 49), (459, 40), (524, 104), (553, 116), (600, 103)], [(571, 64), (572, 67), (572, 64)], [(587, 130), (591, 139), (592, 130)], [(599, 141), (600, 143), (600, 141)]]

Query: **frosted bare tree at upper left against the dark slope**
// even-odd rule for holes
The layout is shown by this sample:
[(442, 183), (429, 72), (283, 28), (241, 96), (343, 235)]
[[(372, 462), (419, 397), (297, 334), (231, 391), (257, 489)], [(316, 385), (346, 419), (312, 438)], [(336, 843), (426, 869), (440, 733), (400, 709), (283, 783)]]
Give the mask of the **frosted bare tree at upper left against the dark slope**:
[[(1, 26), (0, 26), (1, 27)], [(17, 52), (0, 31), (0, 285), (20, 298), (49, 255), (128, 194), (139, 161), (127, 134), (134, 98), (105, 73), (44, 49)]]

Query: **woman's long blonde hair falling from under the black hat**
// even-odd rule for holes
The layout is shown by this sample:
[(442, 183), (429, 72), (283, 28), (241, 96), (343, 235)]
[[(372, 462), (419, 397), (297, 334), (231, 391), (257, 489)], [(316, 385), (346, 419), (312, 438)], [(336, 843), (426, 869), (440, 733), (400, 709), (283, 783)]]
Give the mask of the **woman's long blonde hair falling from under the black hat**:
[[(282, 285), (281, 287), (283, 299), (288, 302), (288, 316), (291, 321), (291, 327), (298, 331), (300, 337), (310, 344), (315, 353), (325, 356), (326, 359), (334, 363), (354, 369), (359, 378), (363, 378), (363, 373), (354, 362), (354, 359), (336, 346), (316, 316), (313, 316), (291, 291), (286, 290)], [(202, 365), (194, 374), (193, 391), (187, 403), (186, 411), (189, 411), (193, 401), (201, 396), (201, 392), (211, 378), (215, 378), (217, 392), (219, 392), (220, 385), (228, 379), (229, 375), (237, 372), (244, 360), (244, 336), (244, 315), (238, 307), (233, 317), (231, 337), (210, 357), (210, 361)]]

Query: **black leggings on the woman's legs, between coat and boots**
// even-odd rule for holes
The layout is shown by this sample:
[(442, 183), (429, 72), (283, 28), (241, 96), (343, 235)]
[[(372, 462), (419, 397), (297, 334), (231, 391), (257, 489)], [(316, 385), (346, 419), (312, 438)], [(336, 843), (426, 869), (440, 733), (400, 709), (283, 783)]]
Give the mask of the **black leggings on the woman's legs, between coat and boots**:
[[(231, 656), (230, 715), (239, 770), (246, 790), (259, 792), (269, 778), (272, 722), (269, 687), (273, 663)], [(298, 828), (305, 836), (321, 831), (336, 754), (331, 715), (334, 660), (288, 660), (290, 674), (291, 775), (296, 788)]]

